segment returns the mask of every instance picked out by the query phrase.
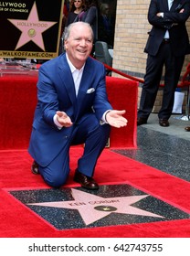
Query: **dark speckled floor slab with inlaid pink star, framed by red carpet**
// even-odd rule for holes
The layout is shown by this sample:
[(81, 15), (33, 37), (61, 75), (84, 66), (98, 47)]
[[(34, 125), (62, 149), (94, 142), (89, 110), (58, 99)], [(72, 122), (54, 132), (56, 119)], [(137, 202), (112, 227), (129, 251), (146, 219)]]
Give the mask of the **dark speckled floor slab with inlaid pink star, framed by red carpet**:
[(84, 229), (174, 219), (189, 214), (130, 185), (9, 191), (56, 229)]

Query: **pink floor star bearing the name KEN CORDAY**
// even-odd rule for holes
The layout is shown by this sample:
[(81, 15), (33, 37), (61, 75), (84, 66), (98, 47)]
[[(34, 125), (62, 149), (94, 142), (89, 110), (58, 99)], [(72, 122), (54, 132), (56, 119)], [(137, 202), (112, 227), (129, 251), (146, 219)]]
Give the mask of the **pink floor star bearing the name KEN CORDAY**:
[(131, 196), (131, 197), (99, 197), (89, 193), (79, 191), (78, 189), (71, 189), (74, 200), (58, 201), (58, 202), (42, 202), (30, 203), (27, 205), (41, 206), (49, 208), (69, 208), (78, 209), (81, 218), (86, 225), (93, 223), (111, 214), (117, 212), (121, 214), (132, 214), (149, 216), (155, 218), (164, 218), (152, 212), (142, 210), (140, 208), (132, 207), (132, 204), (140, 201), (148, 195)]

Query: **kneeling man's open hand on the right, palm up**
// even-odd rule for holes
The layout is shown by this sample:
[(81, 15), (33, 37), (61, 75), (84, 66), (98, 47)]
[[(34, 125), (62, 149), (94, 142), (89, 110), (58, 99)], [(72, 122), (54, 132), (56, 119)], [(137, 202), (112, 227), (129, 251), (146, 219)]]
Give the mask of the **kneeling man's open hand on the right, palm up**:
[(121, 128), (123, 126), (126, 126), (127, 119), (122, 116), (124, 113), (125, 111), (115, 111), (115, 110), (107, 112), (106, 113), (107, 123), (109, 123), (111, 126), (116, 128)]

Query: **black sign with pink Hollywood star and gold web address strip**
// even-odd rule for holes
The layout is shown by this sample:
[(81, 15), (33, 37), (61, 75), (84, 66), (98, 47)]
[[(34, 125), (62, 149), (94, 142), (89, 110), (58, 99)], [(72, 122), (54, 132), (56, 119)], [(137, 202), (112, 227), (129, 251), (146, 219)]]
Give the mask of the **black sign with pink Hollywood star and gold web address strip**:
[(0, 58), (58, 56), (64, 1), (0, 2)]

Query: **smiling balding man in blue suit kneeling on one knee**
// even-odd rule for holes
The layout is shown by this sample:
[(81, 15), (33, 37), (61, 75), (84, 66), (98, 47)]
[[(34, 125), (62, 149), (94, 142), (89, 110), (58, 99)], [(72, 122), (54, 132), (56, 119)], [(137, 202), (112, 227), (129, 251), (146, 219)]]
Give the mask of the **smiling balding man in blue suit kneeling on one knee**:
[(127, 124), (125, 110), (108, 101), (105, 68), (90, 58), (93, 31), (88, 23), (72, 23), (65, 33), (66, 53), (44, 63), (38, 73), (37, 108), (28, 147), (32, 171), (50, 187), (61, 187), (69, 176), (69, 147), (84, 144), (74, 180), (98, 189), (93, 179), (111, 126)]

